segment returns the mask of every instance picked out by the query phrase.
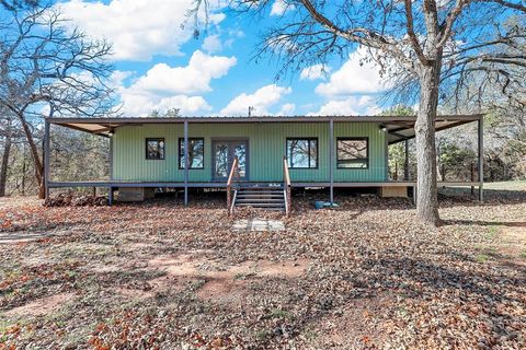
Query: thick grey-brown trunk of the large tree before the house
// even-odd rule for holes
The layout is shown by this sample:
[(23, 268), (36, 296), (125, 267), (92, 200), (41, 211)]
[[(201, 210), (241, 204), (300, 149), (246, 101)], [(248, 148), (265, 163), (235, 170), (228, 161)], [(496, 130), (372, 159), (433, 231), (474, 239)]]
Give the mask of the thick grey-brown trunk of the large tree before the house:
[(436, 189), (435, 118), (438, 106), (439, 63), (423, 66), (420, 78), (420, 107), (414, 126), (416, 133), (416, 214), (419, 220), (438, 225)]

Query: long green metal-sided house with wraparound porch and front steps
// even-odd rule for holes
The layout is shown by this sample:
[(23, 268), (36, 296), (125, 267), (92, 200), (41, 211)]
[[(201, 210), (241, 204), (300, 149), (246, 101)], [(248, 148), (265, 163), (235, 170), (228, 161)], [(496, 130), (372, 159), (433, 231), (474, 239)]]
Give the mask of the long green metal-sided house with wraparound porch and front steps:
[[(49, 118), (46, 188), (106, 187), (113, 201), (114, 191), (141, 199), (145, 189), (174, 187), (184, 189), (185, 203), (190, 188), (227, 188), (229, 208), (261, 203), (281, 209), (289, 205), (290, 187), (330, 188), (331, 201), (339, 187), (403, 195), (415, 190), (415, 182), (389, 178), (388, 145), (414, 138), (414, 116)], [(478, 122), (481, 175), (482, 116), (439, 116), (436, 129), (468, 122)], [(110, 179), (49, 178), (52, 126), (110, 138)], [(477, 186), (482, 199), (482, 176), (439, 186)]]

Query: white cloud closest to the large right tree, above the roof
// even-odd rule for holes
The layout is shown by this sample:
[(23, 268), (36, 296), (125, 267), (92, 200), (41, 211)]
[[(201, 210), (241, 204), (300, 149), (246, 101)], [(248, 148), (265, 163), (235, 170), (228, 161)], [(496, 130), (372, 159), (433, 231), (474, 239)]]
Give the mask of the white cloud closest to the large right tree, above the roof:
[(320, 83), (316, 88), (316, 92), (332, 97), (384, 91), (385, 79), (380, 77), (378, 67), (373, 62), (361, 62), (365, 55), (363, 48), (351, 54), (348, 60), (331, 74), (327, 83)]

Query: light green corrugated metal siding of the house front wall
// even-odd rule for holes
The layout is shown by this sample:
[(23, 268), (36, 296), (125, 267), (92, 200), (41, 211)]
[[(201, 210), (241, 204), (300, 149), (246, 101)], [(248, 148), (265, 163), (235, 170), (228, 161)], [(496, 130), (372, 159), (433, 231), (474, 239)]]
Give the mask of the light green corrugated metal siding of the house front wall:
[[(136, 182), (183, 182), (178, 167), (178, 140), (182, 124), (125, 126), (113, 136), (113, 179)], [(287, 138), (318, 138), (318, 168), (290, 170), (293, 182), (329, 182), (328, 122), (190, 124), (188, 137), (205, 139), (205, 167), (190, 170), (191, 182), (211, 180), (211, 140), (248, 139), (251, 182), (282, 182)], [(338, 137), (369, 138), (369, 168), (339, 170), (334, 159), (334, 182), (382, 182), (386, 179), (385, 132), (374, 122), (334, 122)], [(165, 159), (146, 160), (146, 138), (164, 138)], [(335, 154), (336, 152), (334, 152)]]

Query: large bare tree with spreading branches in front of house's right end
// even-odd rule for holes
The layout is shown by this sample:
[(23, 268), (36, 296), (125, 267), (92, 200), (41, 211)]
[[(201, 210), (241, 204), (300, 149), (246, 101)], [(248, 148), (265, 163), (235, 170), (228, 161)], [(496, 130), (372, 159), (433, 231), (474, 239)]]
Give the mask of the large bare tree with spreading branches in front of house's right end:
[[(411, 78), (405, 80), (407, 86), (416, 86), (419, 92), (418, 218), (428, 224), (439, 224), (434, 121), (441, 84), (445, 86), (445, 79), (458, 81), (473, 65), (521, 63), (524, 57), (501, 52), (499, 47), (524, 34), (502, 33), (496, 39), (489, 34), (490, 28), (499, 27), (512, 14), (524, 15), (526, 7), (507, 0), (284, 2), (290, 11), (285, 11), (270, 28), (259, 50), (260, 55), (270, 52), (282, 59), (283, 69), (278, 74), (325, 63), (335, 55), (345, 56), (361, 45), (388, 77)], [(191, 14), (203, 3), (206, 0), (196, 0)], [(261, 12), (272, 3), (270, 0), (235, 1), (236, 8), (244, 12)]]

